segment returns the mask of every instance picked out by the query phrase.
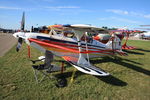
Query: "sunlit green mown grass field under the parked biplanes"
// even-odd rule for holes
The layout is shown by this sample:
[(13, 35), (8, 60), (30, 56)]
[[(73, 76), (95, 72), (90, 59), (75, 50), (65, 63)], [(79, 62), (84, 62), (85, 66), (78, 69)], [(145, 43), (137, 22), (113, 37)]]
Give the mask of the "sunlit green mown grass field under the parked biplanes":
[[(56, 80), (48, 78), (37, 84), (26, 45), (19, 53), (13, 47), (0, 58), (0, 100), (150, 100), (150, 41), (130, 40), (128, 44), (138, 49), (126, 51), (127, 57), (91, 59), (91, 63), (111, 74), (108, 77), (77, 71), (70, 84), (74, 68), (65, 63), (68, 85), (64, 88), (57, 88)], [(43, 55), (34, 48), (31, 51), (31, 59)]]

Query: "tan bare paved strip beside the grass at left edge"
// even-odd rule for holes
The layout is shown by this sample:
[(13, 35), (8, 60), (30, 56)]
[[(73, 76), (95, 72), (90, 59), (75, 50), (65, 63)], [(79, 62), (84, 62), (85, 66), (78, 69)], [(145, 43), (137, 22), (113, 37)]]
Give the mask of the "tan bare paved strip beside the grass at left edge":
[(0, 57), (4, 56), (16, 43), (17, 39), (12, 34), (0, 33)]

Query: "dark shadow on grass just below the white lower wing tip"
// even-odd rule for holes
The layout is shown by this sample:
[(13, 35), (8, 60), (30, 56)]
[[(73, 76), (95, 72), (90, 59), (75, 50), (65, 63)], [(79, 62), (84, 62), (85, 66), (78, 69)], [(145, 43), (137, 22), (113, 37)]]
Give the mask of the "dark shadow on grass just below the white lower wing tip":
[(126, 86), (127, 85), (126, 82), (124, 82), (112, 75), (105, 76), (105, 77), (99, 77), (99, 76), (95, 76), (95, 77), (100, 79), (101, 81), (106, 82), (111, 85), (115, 85), (115, 86)]

